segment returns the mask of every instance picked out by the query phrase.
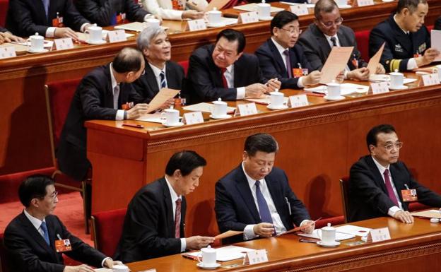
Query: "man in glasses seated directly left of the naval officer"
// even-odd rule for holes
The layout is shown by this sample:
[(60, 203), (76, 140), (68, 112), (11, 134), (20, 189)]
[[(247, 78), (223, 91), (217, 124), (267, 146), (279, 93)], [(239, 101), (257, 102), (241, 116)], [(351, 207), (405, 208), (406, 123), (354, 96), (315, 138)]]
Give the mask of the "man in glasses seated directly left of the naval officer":
[[(332, 47), (354, 47), (344, 77), (361, 81), (369, 79), (367, 62), (361, 59), (355, 33), (351, 28), (341, 25), (343, 18), (339, 6), (333, 0), (319, 0), (314, 7), (314, 16), (314, 23), (299, 38), (299, 44), (302, 45), (312, 69), (322, 69)], [(376, 73), (384, 73), (381, 65), (377, 66)]]

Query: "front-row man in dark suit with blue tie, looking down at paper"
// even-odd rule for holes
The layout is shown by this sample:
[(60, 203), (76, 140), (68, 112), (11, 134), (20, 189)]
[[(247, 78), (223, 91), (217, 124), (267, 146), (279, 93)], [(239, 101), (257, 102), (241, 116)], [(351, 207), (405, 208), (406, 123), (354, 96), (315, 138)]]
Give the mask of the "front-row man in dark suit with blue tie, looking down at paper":
[(245, 140), (242, 164), (216, 182), (214, 210), (220, 232), (243, 231), (228, 242), (271, 237), (305, 225), (314, 230), (302, 201), (297, 199), (283, 170), (273, 167), (278, 144), (269, 134)]

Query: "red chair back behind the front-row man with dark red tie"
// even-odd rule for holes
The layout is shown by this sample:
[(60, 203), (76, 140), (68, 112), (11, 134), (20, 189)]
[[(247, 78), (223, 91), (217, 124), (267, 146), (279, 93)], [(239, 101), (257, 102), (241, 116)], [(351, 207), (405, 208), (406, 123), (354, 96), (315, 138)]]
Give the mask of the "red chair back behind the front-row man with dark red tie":
[(122, 234), (127, 208), (103, 211), (92, 215), (95, 248), (106, 256), (114, 256)]

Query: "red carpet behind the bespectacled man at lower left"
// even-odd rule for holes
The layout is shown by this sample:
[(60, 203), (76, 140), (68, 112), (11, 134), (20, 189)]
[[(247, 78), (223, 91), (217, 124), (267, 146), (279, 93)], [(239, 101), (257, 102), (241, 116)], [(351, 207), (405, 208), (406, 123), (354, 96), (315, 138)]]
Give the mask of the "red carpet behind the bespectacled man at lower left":
[[(90, 235), (86, 235), (84, 232), (83, 199), (81, 199), (80, 193), (59, 194), (58, 200), (54, 214), (61, 219), (67, 230), (73, 235), (93, 246)], [(6, 225), (23, 211), (23, 205), (20, 201), (2, 203), (0, 211), (0, 232), (4, 232)]]

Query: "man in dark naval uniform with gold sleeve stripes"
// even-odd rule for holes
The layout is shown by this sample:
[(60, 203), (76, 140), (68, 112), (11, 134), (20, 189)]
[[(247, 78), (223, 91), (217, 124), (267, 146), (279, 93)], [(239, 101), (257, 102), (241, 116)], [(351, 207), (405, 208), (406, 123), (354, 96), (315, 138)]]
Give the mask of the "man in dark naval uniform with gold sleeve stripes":
[(430, 64), (440, 52), (430, 48), (430, 33), (423, 25), (428, 11), (426, 0), (399, 0), (396, 13), (370, 32), (370, 56), (385, 42), (380, 62), (388, 72)]

